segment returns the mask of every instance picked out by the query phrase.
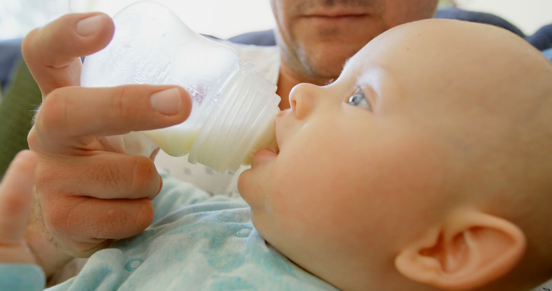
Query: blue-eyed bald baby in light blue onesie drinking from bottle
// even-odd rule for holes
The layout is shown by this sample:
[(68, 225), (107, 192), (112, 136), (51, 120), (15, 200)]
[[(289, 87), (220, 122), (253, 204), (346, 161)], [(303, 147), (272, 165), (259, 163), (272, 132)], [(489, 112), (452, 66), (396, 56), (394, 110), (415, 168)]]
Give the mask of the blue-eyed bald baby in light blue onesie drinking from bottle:
[[(279, 153), (240, 177), (247, 204), (165, 176), (150, 227), (51, 289), (528, 290), (552, 277), (552, 64), (524, 40), (416, 21), (289, 98)], [(33, 262), (32, 164), (18, 157), (0, 190), (0, 287), (44, 284), (15, 265)]]

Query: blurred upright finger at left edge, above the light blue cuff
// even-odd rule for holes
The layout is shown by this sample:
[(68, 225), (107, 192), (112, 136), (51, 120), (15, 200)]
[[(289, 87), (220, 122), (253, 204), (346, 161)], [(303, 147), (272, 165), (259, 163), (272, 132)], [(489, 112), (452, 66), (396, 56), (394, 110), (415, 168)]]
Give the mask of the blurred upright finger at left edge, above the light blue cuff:
[(0, 184), (0, 245), (18, 245), (33, 207), (36, 155), (23, 150), (10, 164)]

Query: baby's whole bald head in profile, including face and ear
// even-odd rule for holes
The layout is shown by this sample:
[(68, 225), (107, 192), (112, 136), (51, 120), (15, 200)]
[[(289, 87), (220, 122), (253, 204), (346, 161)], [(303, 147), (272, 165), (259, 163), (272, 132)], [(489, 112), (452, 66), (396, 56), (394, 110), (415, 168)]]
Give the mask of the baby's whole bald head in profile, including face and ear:
[(332, 84), (294, 88), (278, 155), (240, 177), (253, 224), (340, 289), (528, 289), (552, 276), (550, 80), (493, 26), (386, 31)]

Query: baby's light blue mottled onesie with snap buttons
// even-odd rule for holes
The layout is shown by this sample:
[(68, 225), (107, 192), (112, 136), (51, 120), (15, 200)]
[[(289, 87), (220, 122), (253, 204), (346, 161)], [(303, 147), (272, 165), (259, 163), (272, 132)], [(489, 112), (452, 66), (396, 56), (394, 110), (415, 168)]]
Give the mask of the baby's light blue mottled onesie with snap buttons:
[[(163, 178), (150, 227), (49, 290), (336, 290), (268, 245), (243, 200)], [(36, 266), (0, 264), (0, 290), (41, 289), (43, 276)]]

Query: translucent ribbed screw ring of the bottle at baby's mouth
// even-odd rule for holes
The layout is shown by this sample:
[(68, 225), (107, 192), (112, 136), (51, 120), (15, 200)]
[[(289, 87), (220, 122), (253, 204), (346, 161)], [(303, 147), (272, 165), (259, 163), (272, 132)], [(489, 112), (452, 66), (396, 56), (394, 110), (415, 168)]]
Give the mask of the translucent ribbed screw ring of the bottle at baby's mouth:
[(236, 172), (257, 150), (274, 142), (274, 118), (280, 97), (277, 87), (244, 64), (214, 97), (188, 156), (225, 173)]

